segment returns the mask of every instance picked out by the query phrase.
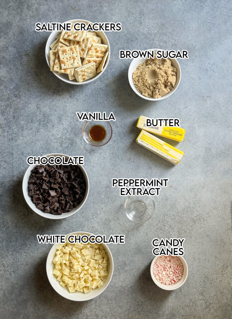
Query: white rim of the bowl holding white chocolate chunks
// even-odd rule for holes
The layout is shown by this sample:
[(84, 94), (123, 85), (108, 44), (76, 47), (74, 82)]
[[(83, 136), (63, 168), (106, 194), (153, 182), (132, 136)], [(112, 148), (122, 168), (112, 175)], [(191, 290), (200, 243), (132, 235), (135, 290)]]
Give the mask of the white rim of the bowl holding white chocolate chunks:
[[(94, 235), (94, 234), (91, 234), (91, 233), (88, 233), (88, 232), (82, 232), (82, 231), (80, 231), (80, 232), (72, 232), (72, 233), (69, 233), (69, 234), (67, 234), (65, 237), (67, 238), (67, 236), (72, 235), (72, 234), (73, 234), (73, 235), (81, 234), (81, 235), (88, 235), (88, 236)], [(48, 281), (49, 281), (50, 285), (53, 287), (53, 289), (54, 289), (59, 295), (61, 295), (62, 297), (64, 297), (65, 299), (72, 300), (72, 301), (86, 301), (86, 300), (91, 300), (91, 299), (94, 299), (94, 298), (98, 297), (101, 293), (103, 293), (103, 291), (108, 287), (109, 283), (111, 282), (111, 279), (112, 279), (112, 276), (113, 276), (113, 267), (114, 267), (114, 265), (113, 265), (113, 256), (112, 256), (112, 253), (111, 253), (109, 247), (108, 247), (106, 244), (102, 243), (102, 245), (106, 247), (107, 256), (108, 256), (108, 258), (110, 257), (111, 263), (112, 263), (112, 272), (111, 272), (111, 274), (110, 274), (109, 280), (108, 280), (107, 282), (105, 282), (105, 287), (104, 287), (96, 296), (94, 296), (94, 297), (91, 297), (91, 298), (88, 298), (88, 297), (87, 297), (89, 294), (91, 294), (91, 292), (90, 292), (90, 293), (85, 293), (85, 294), (84, 294), (87, 298), (85, 298), (85, 299), (83, 299), (83, 300), (76, 300), (76, 299), (74, 299), (74, 298), (67, 298), (67, 297), (64, 296), (62, 293), (60, 293), (60, 292), (58, 291), (58, 289), (56, 289), (56, 288), (53, 286), (52, 282), (50, 281), (50, 278), (51, 278), (51, 276), (53, 276), (53, 273), (51, 273), (51, 274), (49, 273), (49, 275), (48, 275), (49, 263), (51, 263), (52, 260), (53, 260), (53, 259), (49, 259), (50, 257), (52, 257), (52, 249), (53, 249), (55, 246), (58, 246), (58, 245), (59, 245), (59, 244), (57, 243), (57, 244), (54, 244), (54, 245), (51, 247), (51, 249), (49, 250), (49, 253), (48, 253), (48, 255), (47, 255), (47, 261), (46, 261), (46, 273), (47, 273), (47, 278), (48, 278)], [(108, 274), (108, 275), (109, 275), (109, 274)], [(107, 275), (107, 276), (108, 276), (108, 275)], [(94, 289), (94, 290), (95, 290), (95, 289)], [(94, 290), (93, 290), (93, 291), (94, 291)], [(70, 296), (74, 296), (74, 295), (73, 295), (72, 293), (70, 293)]]

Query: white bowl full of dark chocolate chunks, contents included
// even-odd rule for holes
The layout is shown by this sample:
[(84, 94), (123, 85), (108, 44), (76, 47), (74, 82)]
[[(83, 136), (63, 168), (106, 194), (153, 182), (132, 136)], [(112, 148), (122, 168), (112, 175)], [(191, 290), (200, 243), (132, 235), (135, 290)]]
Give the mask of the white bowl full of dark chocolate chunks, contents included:
[[(65, 156), (64, 154), (48, 154)], [(81, 165), (30, 165), (23, 178), (23, 195), (40, 216), (61, 219), (75, 214), (89, 194), (89, 178)]]

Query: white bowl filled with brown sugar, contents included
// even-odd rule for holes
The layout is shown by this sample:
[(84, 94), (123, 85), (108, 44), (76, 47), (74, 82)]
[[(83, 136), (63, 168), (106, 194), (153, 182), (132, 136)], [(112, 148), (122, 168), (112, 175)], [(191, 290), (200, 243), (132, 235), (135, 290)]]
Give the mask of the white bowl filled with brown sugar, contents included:
[(153, 58), (138, 57), (132, 60), (128, 79), (133, 91), (141, 98), (150, 101), (163, 100), (176, 91), (181, 79), (180, 65), (177, 59), (158, 59), (158, 49)]

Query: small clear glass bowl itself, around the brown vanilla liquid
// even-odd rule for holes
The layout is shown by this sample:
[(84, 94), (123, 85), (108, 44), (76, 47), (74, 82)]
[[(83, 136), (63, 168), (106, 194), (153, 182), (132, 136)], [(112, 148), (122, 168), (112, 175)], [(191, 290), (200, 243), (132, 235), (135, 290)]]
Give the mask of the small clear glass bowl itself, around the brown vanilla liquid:
[[(95, 125), (101, 125), (105, 128), (106, 136), (100, 142), (95, 142), (90, 137), (90, 129)], [(113, 134), (112, 126), (109, 121), (86, 121), (82, 129), (82, 135), (86, 143), (92, 146), (103, 146), (111, 140)]]

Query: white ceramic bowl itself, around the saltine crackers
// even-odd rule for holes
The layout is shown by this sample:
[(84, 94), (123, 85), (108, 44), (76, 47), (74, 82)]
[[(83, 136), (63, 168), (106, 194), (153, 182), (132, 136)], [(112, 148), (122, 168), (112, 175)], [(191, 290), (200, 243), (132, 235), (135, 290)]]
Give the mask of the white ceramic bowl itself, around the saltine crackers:
[[(92, 22), (90, 22), (90, 21), (88, 21), (88, 20), (76, 20), (76, 19), (74, 19), (74, 20), (69, 20), (69, 21), (65, 21), (65, 23), (66, 23), (66, 22), (72, 22), (72, 23), (85, 22), (86, 24), (92, 23)], [(57, 35), (60, 34), (60, 33), (61, 33), (61, 32), (59, 32), (59, 31), (53, 31), (53, 32), (49, 35), (49, 37), (48, 37), (48, 39), (47, 39), (47, 43), (46, 43), (46, 47), (45, 47), (45, 57), (46, 57), (46, 61), (47, 61), (47, 65), (48, 65), (49, 69), (50, 69), (50, 63), (49, 63), (49, 51), (50, 51), (50, 47), (49, 47), (49, 46), (56, 40)], [(69, 83), (69, 84), (83, 85), (83, 84), (87, 84), (87, 83), (90, 83), (90, 82), (96, 80), (97, 78), (99, 78), (99, 77), (102, 75), (102, 73), (105, 71), (105, 69), (106, 69), (106, 67), (107, 67), (107, 65), (108, 65), (108, 63), (109, 63), (109, 60), (110, 60), (110, 44), (109, 44), (109, 41), (108, 41), (108, 39), (107, 39), (107, 36), (105, 35), (105, 33), (104, 33), (103, 31), (96, 31), (96, 33), (97, 33), (97, 36), (98, 36), (98, 37), (102, 38), (102, 44), (107, 44), (107, 45), (108, 45), (108, 48), (106, 49), (105, 52), (109, 52), (109, 54), (108, 54), (107, 59), (106, 59), (106, 61), (105, 61), (105, 65), (104, 65), (103, 70), (102, 70), (100, 73), (98, 73), (98, 74), (96, 75), (96, 77), (91, 78), (91, 79), (86, 80), (86, 81), (83, 81), (83, 82), (81, 82), (81, 83), (77, 82), (76, 79), (70, 81), (67, 74), (62, 74), (62, 73), (59, 74), (58, 72), (53, 72), (53, 74), (54, 74), (57, 78), (59, 78), (60, 80), (62, 80), (62, 81), (64, 81), (64, 82), (67, 82), (67, 83)]]

